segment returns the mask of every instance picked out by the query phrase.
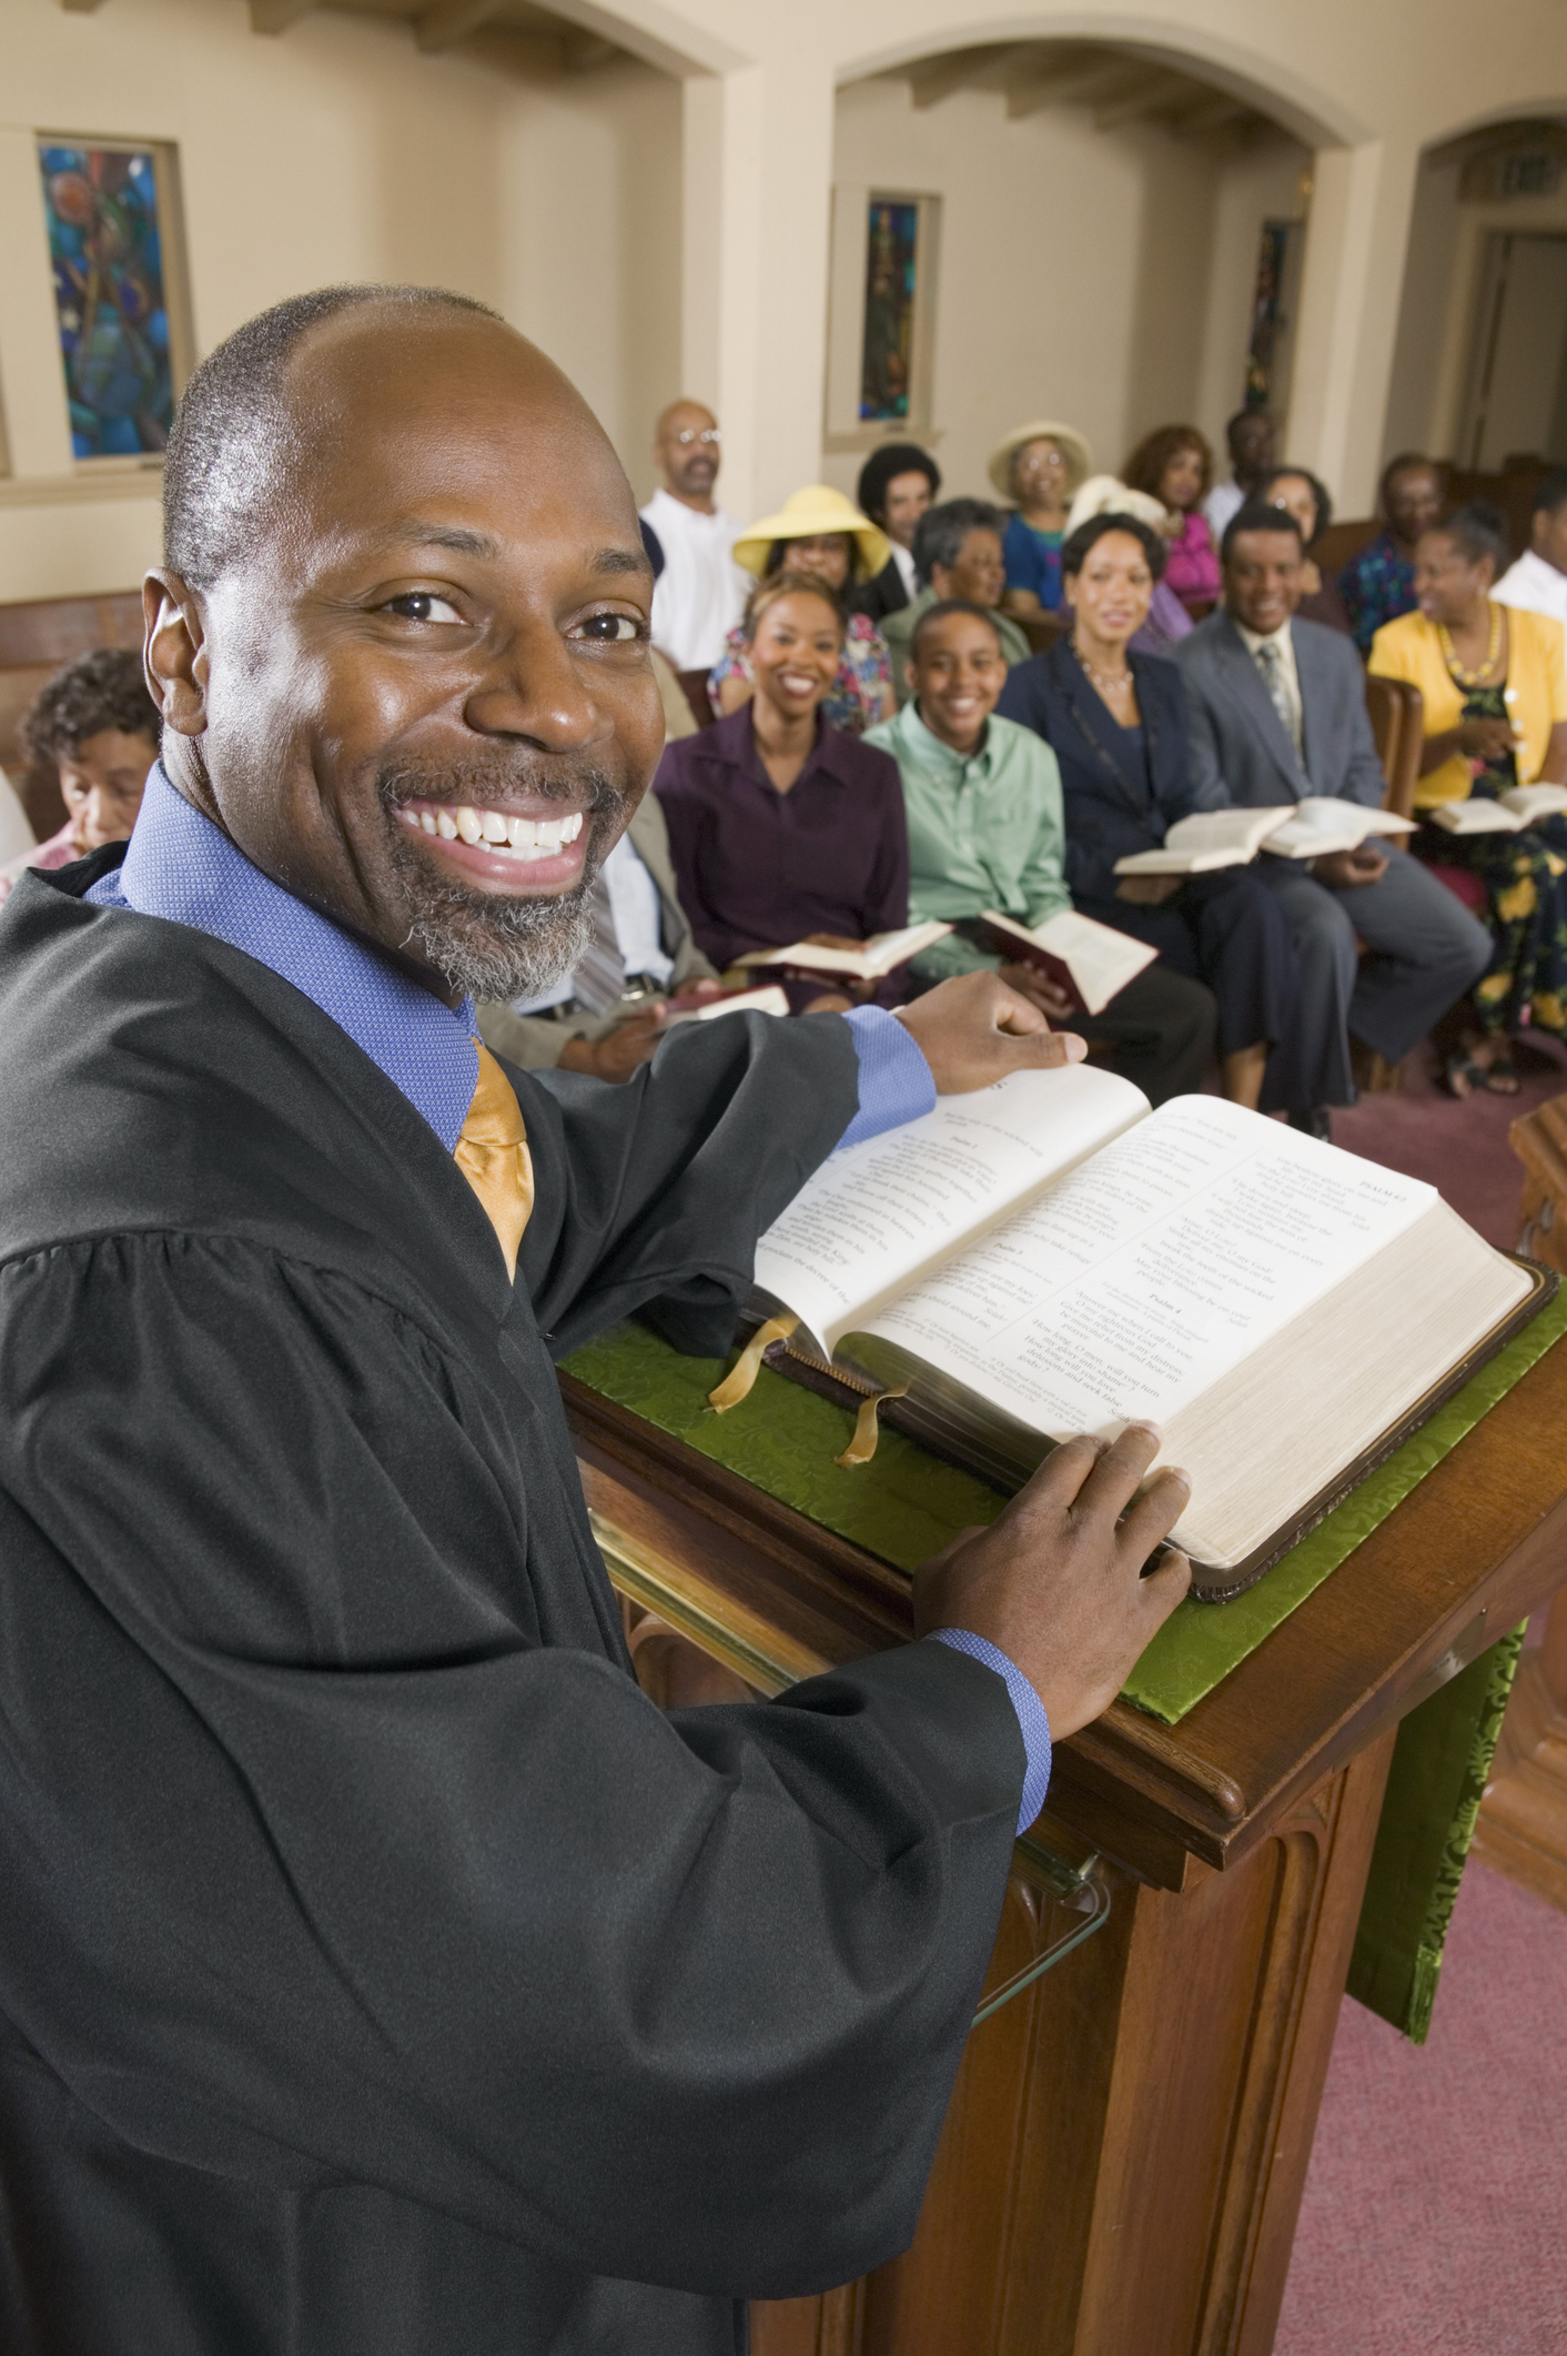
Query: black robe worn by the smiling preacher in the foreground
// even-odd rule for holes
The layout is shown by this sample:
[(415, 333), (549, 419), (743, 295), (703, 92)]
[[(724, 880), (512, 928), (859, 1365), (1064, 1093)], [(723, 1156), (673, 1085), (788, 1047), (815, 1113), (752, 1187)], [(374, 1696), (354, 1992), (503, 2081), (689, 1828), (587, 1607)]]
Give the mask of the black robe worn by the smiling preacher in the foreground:
[(938, 1644), (653, 1708), (549, 1348), (723, 1345), (853, 1041), (514, 1072), (514, 1291), (358, 1046), (108, 865), (0, 919), (0, 2347), (728, 2356), (912, 2233), (1023, 1743)]

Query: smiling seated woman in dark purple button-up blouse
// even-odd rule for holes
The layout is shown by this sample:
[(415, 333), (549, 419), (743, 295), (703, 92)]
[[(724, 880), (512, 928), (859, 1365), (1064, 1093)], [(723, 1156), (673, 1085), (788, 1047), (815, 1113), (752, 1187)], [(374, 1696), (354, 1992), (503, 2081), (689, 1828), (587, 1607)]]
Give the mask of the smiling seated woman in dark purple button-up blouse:
[[(667, 744), (653, 780), (681, 907), (719, 968), (792, 940), (860, 947), (910, 921), (898, 763), (820, 714), (841, 605), (820, 580), (780, 573), (752, 596), (745, 631), (752, 700)], [(813, 985), (796, 994), (820, 1004)]]

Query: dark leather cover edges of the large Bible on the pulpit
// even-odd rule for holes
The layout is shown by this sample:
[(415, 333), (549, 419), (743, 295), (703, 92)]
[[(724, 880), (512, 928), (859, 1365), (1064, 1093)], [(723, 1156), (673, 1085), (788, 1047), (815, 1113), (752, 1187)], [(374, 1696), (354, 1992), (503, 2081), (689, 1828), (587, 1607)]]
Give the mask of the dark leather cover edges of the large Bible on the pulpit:
[[(1291, 1515), (1289, 1522), (1282, 1522), (1275, 1531), (1270, 1531), (1268, 1538), (1263, 1538), (1263, 1543), (1242, 1562), (1216, 1564), (1197, 1562), (1197, 1557), (1192, 1557), (1190, 1593), (1197, 1602), (1228, 1604), (1235, 1595), (1244, 1595), (1247, 1588), (1254, 1588), (1275, 1562), (1282, 1562), (1301, 1538), (1310, 1536), (1320, 1522), (1327, 1522), (1329, 1513), (1334, 1513), (1336, 1505), (1343, 1505), (1345, 1496), (1350, 1496), (1362, 1480), (1376, 1472), (1388, 1456), (1395, 1456), (1404, 1440), (1419, 1432), (1419, 1428), (1428, 1423), (1440, 1407), (1447, 1407), (1447, 1402), (1456, 1397), (1463, 1385), (1496, 1357), (1499, 1350), (1506, 1350), (1506, 1345), (1522, 1333), (1534, 1317), (1539, 1317), (1546, 1303), (1555, 1298), (1560, 1284), (1555, 1270), (1541, 1268), (1536, 1260), (1525, 1260), (1515, 1251), (1503, 1251), (1501, 1256), (1503, 1260), (1513, 1260), (1513, 1265), (1522, 1268), (1529, 1277), (1529, 1291), (1518, 1308), (1494, 1324), (1492, 1331), (1485, 1333), (1456, 1366), (1449, 1366), (1447, 1374), (1421, 1392), (1414, 1407), (1409, 1407), (1395, 1423), (1386, 1425), (1369, 1449), (1336, 1472), (1324, 1489), (1308, 1498), (1301, 1513)], [(749, 1319), (752, 1329), (756, 1319)], [(827, 1366), (815, 1355), (799, 1350), (787, 1341), (775, 1341), (771, 1350), (766, 1350), (763, 1359), (778, 1374), (787, 1374), (789, 1381), (822, 1392), (822, 1397), (834, 1399), (839, 1407), (858, 1409), (867, 1397), (881, 1392), (881, 1383), (877, 1383), (870, 1374), (862, 1374), (862, 1369), (844, 1359)], [(992, 1414), (997, 1411), (992, 1409)], [(976, 1444), (966, 1432), (957, 1430), (947, 1416), (943, 1416), (940, 1404), (926, 1399), (888, 1397), (884, 1399), (879, 1416), (881, 1423), (891, 1423), (893, 1430), (917, 1440), (921, 1449), (931, 1451), (931, 1456), (943, 1456), (947, 1463), (959, 1465), (961, 1472), (973, 1472), (1001, 1496), (1016, 1496), (1030, 1472), (1044, 1463), (1056, 1444), (1053, 1440), (1046, 1440), (1044, 1432), (1034, 1432), (1027, 1425), (1016, 1423), (1013, 1428), (1020, 1437), (1018, 1456), (1004, 1454), (1001, 1449), (987, 1449)], [(997, 1416), (997, 1421), (1001, 1418)], [(1011, 1423), (1013, 1418), (1004, 1421)], [(1027, 1456), (1032, 1456), (1034, 1463), (1027, 1463)]]

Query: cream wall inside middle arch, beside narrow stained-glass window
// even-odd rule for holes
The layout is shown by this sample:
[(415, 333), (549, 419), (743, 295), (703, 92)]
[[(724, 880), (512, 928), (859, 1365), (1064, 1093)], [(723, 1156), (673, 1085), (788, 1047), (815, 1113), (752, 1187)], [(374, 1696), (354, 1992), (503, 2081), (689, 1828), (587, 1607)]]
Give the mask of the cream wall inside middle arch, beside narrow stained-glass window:
[[(1119, 469), (1150, 426), (1218, 445), (1244, 396), (1263, 219), (1298, 210), (1310, 155), (1284, 134), (1228, 153), (1079, 108), (1016, 123), (999, 92), (917, 108), (907, 80), (837, 101), (834, 181), (943, 198), (933, 450), (954, 490), (1025, 417), (1060, 417)], [(841, 304), (834, 337), (858, 335)], [(860, 455), (825, 471), (853, 488)]]

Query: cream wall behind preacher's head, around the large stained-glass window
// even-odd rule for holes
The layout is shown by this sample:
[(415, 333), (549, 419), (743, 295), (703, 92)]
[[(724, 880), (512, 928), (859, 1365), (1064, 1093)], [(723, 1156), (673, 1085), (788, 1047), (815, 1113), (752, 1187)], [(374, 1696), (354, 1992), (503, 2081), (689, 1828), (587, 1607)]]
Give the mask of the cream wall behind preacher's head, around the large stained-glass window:
[(68, 443), (33, 130), (179, 146), (198, 353), (302, 287), (450, 285), (561, 360), (641, 492), (679, 391), (679, 82), (632, 61), (530, 80), (372, 16), (264, 40), (243, 0), (5, 0), (0, 598), (123, 589), (158, 551), (156, 481), (94, 504), (49, 483)]

